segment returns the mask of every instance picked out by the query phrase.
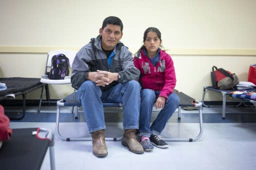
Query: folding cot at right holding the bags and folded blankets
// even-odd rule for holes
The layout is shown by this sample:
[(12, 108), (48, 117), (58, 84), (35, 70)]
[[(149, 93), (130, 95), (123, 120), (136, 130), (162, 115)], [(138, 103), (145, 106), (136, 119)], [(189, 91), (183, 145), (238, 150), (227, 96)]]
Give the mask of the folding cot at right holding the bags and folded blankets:
[[(204, 107), (213, 107), (213, 106), (210, 106), (210, 105), (206, 105), (204, 103), (204, 97), (205, 97), (205, 94), (206, 94), (206, 91), (209, 90), (209, 91), (213, 91), (213, 92), (217, 92), (217, 93), (221, 93), (222, 94), (222, 119), (225, 119), (225, 110), (226, 110), (226, 102), (238, 102), (237, 105), (234, 105), (234, 107), (237, 107), (237, 106), (240, 106), (242, 103), (244, 102), (250, 102), (252, 103), (254, 106), (256, 106), (256, 101), (254, 100), (250, 100), (250, 99), (246, 99), (246, 98), (242, 98), (242, 99), (239, 99), (239, 98), (236, 98), (236, 99), (239, 99), (238, 101), (230, 101), (230, 100), (226, 100), (226, 96), (230, 96), (229, 94), (234, 92), (234, 91), (237, 91), (237, 90), (218, 90), (218, 89), (214, 89), (212, 86), (205, 86), (203, 87), (203, 93), (202, 93), (202, 105)], [(256, 89), (247, 89), (247, 91), (256, 91)], [(230, 96), (231, 97), (231, 96)]]

